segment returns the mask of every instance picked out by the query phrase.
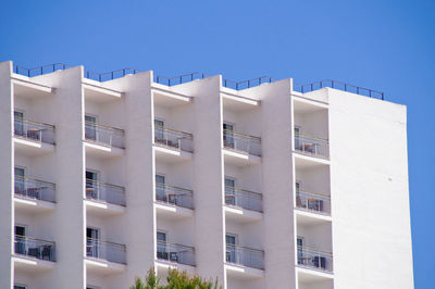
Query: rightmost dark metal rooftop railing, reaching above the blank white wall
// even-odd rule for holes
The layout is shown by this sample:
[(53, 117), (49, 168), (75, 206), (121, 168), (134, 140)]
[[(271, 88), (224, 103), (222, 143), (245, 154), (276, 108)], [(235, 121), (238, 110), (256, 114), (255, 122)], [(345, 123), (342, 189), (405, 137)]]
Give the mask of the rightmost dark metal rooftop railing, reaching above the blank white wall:
[(320, 80), (320, 81), (308, 84), (308, 85), (295, 86), (294, 90), (304, 93), (304, 92), (321, 89), (323, 87), (331, 87), (331, 88), (357, 93), (360, 96), (365, 96), (369, 98), (376, 98), (376, 99), (384, 100), (384, 92), (382, 92), (382, 91), (377, 91), (374, 89), (364, 88), (364, 87), (360, 87), (360, 86), (349, 85), (349, 84), (345, 84), (345, 83), (332, 80), (332, 79)]

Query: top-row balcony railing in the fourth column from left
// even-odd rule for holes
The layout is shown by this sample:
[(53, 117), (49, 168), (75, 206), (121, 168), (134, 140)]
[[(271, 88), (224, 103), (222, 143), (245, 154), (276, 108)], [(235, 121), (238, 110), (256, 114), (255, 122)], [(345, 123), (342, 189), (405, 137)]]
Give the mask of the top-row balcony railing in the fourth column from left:
[(234, 130), (224, 129), (223, 140), (226, 149), (261, 156), (261, 138), (259, 137), (252, 137)]

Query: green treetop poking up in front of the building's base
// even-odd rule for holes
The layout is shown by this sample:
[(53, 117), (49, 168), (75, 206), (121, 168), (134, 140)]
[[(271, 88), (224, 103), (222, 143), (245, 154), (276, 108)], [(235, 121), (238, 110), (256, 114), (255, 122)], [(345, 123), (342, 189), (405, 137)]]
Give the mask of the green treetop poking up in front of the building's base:
[(167, 285), (160, 285), (160, 277), (157, 276), (153, 268), (147, 273), (145, 281), (137, 277), (135, 285), (129, 289), (220, 289), (217, 278), (212, 280), (204, 280), (199, 276), (189, 277), (186, 272), (177, 269), (170, 269), (166, 278)]

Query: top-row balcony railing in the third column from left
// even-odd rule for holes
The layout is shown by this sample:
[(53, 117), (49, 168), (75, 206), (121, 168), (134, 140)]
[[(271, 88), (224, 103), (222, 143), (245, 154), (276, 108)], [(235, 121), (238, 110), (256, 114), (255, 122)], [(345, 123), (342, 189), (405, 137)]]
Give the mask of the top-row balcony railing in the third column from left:
[(192, 136), (190, 134), (163, 126), (154, 126), (154, 142), (182, 151), (194, 151)]

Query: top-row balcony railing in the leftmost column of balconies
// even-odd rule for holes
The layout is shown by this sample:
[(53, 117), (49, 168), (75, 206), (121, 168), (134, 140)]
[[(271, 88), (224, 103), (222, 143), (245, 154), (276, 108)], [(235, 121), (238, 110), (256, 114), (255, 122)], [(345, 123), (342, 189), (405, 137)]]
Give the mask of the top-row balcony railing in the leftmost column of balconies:
[(23, 117), (14, 117), (14, 135), (34, 141), (54, 144), (54, 126), (29, 121)]

